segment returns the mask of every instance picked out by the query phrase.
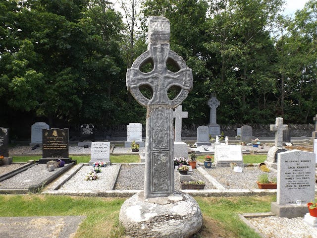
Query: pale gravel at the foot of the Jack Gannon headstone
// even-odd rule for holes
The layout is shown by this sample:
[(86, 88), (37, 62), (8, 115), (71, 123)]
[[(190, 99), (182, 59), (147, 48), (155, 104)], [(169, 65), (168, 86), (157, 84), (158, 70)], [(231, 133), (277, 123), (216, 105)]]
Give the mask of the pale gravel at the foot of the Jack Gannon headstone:
[(247, 220), (269, 238), (317, 238), (317, 228), (306, 224), (301, 217), (289, 219), (271, 216)]

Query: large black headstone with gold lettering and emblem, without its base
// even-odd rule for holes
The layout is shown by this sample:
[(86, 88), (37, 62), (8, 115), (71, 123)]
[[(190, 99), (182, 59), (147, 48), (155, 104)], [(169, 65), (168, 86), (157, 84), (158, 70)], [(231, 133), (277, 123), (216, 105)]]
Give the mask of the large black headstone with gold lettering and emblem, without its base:
[(43, 158), (68, 158), (68, 128), (43, 129)]

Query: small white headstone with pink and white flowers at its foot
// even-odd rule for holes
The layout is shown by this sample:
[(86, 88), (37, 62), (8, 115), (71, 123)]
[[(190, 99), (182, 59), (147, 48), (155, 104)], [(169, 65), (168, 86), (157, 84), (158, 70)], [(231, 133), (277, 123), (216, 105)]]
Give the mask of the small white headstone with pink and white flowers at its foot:
[(92, 142), (89, 165), (94, 162), (110, 164), (110, 142)]

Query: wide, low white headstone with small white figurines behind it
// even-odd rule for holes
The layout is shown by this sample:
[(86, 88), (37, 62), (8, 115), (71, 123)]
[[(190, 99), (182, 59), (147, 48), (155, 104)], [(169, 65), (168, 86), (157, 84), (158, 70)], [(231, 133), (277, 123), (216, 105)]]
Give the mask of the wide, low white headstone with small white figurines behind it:
[(216, 167), (229, 167), (230, 163), (236, 163), (237, 166), (243, 166), (241, 145), (215, 145), (214, 165)]

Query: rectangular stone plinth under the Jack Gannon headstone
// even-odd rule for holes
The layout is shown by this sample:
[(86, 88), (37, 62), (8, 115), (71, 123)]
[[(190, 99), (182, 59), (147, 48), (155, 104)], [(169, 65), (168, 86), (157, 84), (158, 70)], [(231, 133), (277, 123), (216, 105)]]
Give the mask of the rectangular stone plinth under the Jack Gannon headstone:
[(307, 213), (307, 210), (308, 209), (306, 203), (300, 206), (296, 204), (280, 205), (276, 202), (271, 203), (271, 212), (278, 217), (303, 217)]

